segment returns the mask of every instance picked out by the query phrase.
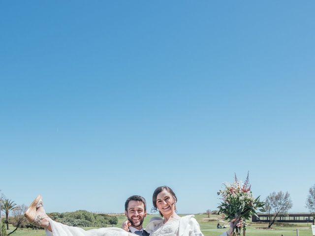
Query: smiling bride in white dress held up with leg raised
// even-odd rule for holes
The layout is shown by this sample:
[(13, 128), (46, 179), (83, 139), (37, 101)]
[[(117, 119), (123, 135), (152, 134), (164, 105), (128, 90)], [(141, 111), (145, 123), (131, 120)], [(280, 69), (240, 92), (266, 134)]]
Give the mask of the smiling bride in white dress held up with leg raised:
[[(171, 188), (158, 187), (153, 193), (153, 206), (163, 219), (152, 220), (147, 225), (146, 231), (150, 236), (203, 236), (193, 215), (180, 217), (176, 214), (176, 202), (176, 195)], [(108, 227), (88, 231), (55, 222), (45, 213), (40, 195), (32, 202), (25, 216), (32, 224), (44, 228), (47, 236), (136, 236), (129, 232), (128, 221), (124, 222), (123, 229)], [(233, 236), (236, 220), (233, 219), (229, 230), (220, 236)], [(239, 221), (236, 226), (241, 227), (242, 221)]]

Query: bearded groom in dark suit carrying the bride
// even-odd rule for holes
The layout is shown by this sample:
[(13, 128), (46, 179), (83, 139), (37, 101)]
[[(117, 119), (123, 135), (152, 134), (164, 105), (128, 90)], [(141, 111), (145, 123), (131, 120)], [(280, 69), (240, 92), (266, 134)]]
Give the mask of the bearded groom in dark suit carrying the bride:
[(129, 232), (139, 236), (150, 235), (142, 227), (144, 217), (147, 216), (146, 200), (143, 197), (138, 195), (129, 197), (125, 203), (125, 215), (128, 220), (123, 223), (123, 229), (127, 231), (129, 228)]

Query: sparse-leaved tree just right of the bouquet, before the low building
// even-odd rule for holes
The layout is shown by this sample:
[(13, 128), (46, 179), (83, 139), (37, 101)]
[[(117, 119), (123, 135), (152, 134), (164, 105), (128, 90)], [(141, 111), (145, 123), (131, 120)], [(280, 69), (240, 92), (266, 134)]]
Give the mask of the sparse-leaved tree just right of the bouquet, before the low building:
[(266, 198), (265, 209), (269, 216), (269, 225), (270, 228), (273, 223), (276, 221), (276, 217), (279, 213), (287, 213), (292, 207), (292, 201), (290, 199), (290, 194), (288, 192), (273, 192), (269, 194)]

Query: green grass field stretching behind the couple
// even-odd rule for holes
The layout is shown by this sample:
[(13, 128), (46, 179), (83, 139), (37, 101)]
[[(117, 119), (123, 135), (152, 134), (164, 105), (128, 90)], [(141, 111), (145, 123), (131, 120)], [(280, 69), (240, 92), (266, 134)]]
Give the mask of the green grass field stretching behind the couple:
[[(144, 225), (147, 225), (150, 221), (150, 218), (157, 215), (148, 215), (145, 218)], [(182, 215), (183, 216), (183, 215)], [(207, 218), (206, 214), (196, 214), (195, 218), (200, 224), (200, 228), (202, 233), (205, 236), (218, 236), (226, 231), (226, 229), (217, 229), (218, 216), (211, 215), (210, 219)], [(126, 220), (125, 216), (118, 216), (118, 224), (120, 227), (122, 222)], [(307, 225), (307, 223), (291, 223), (291, 224), (278, 224), (273, 225), (273, 229), (266, 230), (267, 224), (261, 223), (252, 223), (248, 222), (246, 236), (296, 236), (296, 229), (299, 229), (299, 236), (312, 236), (311, 224)], [(110, 225), (107, 225), (110, 227)], [(14, 229), (13, 226), (10, 227), (11, 232)], [(85, 230), (93, 229), (92, 227), (86, 227)], [(15, 231), (11, 236), (45, 236), (44, 230), (29, 230), (29, 229), (19, 229)]]

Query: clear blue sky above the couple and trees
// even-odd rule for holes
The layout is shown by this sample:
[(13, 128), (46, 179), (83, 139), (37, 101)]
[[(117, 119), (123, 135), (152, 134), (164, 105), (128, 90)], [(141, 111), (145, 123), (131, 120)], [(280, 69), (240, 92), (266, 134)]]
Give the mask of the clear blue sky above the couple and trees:
[(169, 185), (216, 209), (250, 171), (307, 212), (315, 1), (1, 1), (0, 189), (46, 210), (123, 212)]

